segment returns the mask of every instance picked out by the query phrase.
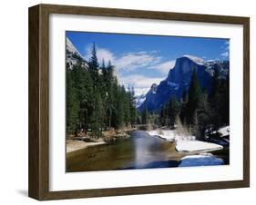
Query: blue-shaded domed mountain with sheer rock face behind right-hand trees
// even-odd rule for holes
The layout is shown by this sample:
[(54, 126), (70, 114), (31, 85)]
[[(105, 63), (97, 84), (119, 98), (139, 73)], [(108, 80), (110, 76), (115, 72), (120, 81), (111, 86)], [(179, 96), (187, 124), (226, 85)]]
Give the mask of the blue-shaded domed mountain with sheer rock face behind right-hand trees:
[(189, 83), (193, 69), (196, 70), (200, 86), (211, 92), (212, 76), (215, 69), (220, 71), (220, 77), (225, 77), (229, 73), (228, 68), (224, 68), (220, 62), (203, 60), (194, 61), (188, 56), (182, 56), (176, 60), (175, 66), (169, 71), (168, 77), (162, 82), (153, 84), (146, 94), (145, 101), (138, 107), (142, 111), (145, 107), (148, 111), (159, 111), (164, 102), (168, 102), (170, 97), (181, 99), (184, 91), (189, 90)]

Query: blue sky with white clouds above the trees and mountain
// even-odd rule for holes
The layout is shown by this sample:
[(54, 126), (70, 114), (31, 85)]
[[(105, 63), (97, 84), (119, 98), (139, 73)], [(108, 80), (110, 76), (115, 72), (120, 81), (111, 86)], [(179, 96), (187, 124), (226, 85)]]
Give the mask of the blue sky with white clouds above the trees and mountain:
[(118, 71), (118, 81), (146, 93), (152, 83), (164, 80), (175, 59), (189, 54), (204, 60), (229, 59), (229, 40), (217, 38), (67, 32), (67, 37), (86, 59), (93, 43), (97, 58), (110, 60)]

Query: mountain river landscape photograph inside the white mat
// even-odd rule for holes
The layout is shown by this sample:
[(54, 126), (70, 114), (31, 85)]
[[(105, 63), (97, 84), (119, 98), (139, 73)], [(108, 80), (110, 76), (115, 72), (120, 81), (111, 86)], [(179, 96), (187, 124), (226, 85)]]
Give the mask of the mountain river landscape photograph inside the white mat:
[(230, 39), (66, 31), (66, 171), (230, 164)]

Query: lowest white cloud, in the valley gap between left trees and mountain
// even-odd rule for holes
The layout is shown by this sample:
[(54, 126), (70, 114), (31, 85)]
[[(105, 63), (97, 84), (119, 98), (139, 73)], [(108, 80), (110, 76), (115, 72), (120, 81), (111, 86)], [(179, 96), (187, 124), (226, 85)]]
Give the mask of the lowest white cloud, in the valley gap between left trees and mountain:
[(125, 87), (134, 87), (134, 92), (136, 95), (147, 93), (153, 83), (159, 84), (162, 80), (162, 78), (146, 77), (138, 74), (119, 78), (119, 82), (125, 85)]

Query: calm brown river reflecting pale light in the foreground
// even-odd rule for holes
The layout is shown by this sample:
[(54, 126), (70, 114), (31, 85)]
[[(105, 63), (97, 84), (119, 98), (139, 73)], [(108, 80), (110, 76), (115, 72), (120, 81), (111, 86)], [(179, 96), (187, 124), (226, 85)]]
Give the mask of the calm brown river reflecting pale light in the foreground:
[[(159, 137), (148, 136), (147, 132), (134, 131), (129, 138), (116, 142), (87, 147), (67, 155), (67, 172), (109, 171), (146, 168), (178, 167), (185, 153), (175, 151), (175, 143)], [(229, 151), (215, 151), (214, 155), (228, 164)], [(193, 166), (193, 161), (185, 161)], [(197, 166), (199, 162), (195, 163)], [(218, 162), (219, 163), (219, 162)], [(217, 165), (210, 161), (209, 165)], [(208, 164), (206, 164), (208, 165)]]

